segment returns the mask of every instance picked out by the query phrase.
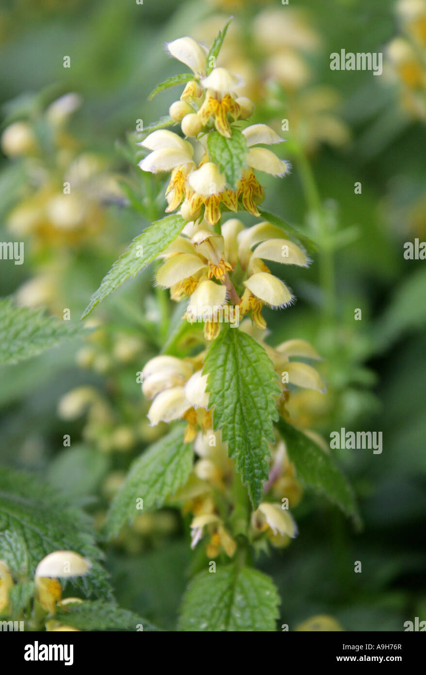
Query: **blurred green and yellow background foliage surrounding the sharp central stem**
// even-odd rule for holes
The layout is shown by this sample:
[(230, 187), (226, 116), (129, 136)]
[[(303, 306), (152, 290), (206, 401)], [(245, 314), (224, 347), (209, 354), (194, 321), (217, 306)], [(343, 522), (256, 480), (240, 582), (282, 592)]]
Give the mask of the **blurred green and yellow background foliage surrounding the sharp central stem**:
[[(303, 227), (319, 252), (309, 270), (289, 269), (298, 302), (269, 313), (270, 342), (304, 338), (324, 356), (328, 394), (293, 396), (300, 425), (326, 439), (340, 427), (382, 431), (384, 447), (336, 453), (359, 497), (362, 533), (305, 493), (294, 510), (299, 537), (262, 554), (291, 630), (314, 614), (334, 616), (344, 630), (403, 630), (426, 618), (426, 263), (403, 255), (404, 242), (426, 240), (426, 8), (413, 19), (408, 5), (1, 3), (2, 130), (28, 122), (38, 148), (16, 156), (3, 142), (1, 240), (24, 240), (26, 257), (24, 265), (1, 261), (1, 296), (59, 317), (69, 308), (78, 321), (119, 252), (162, 215), (158, 180), (136, 166), (134, 134), (139, 119), (150, 124), (177, 98), (167, 90), (147, 101), (180, 72), (166, 41), (211, 42), (234, 14), (221, 58), (251, 87), (255, 121), (280, 132), (289, 120), (281, 153), (293, 172), (280, 182), (262, 175), (264, 206)], [(330, 53), (342, 48), (384, 52), (384, 74), (330, 70)], [(58, 121), (49, 105), (67, 92), (80, 99)], [(58, 199), (70, 175), (84, 205), (72, 216)], [(131, 460), (162, 433), (148, 427), (135, 383), (173, 323), (166, 294), (151, 286), (146, 271), (96, 308), (85, 342), (0, 370), (1, 463), (47, 476), (99, 523)], [(188, 522), (173, 509), (144, 514), (106, 550), (121, 605), (173, 630), (201, 564), (189, 551)]]

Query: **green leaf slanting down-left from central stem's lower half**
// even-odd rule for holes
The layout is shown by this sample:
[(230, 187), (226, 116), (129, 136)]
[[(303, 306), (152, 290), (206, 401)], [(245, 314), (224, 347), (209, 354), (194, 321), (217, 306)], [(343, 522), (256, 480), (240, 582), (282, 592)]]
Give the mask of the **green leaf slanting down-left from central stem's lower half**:
[(185, 485), (193, 451), (183, 442), (184, 431), (185, 427), (178, 425), (133, 462), (106, 516), (104, 527), (109, 537), (141, 512), (137, 509), (138, 499), (144, 500), (144, 511), (160, 508), (167, 497)]

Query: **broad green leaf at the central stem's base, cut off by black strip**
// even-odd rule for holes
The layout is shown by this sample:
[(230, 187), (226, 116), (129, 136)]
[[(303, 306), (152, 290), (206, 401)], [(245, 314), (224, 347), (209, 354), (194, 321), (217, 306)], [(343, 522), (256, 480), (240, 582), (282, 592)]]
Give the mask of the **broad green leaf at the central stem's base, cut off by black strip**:
[(179, 630), (274, 631), (279, 602), (272, 579), (253, 568), (200, 572), (185, 593)]

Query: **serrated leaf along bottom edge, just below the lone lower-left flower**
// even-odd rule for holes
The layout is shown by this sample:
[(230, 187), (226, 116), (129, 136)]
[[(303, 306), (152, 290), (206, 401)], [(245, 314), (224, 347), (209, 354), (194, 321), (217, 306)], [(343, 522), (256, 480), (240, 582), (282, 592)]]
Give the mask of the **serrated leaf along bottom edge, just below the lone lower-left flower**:
[[(158, 630), (138, 614), (102, 600), (69, 603), (55, 614), (55, 621), (79, 630)], [(143, 628), (141, 627), (143, 626)]]

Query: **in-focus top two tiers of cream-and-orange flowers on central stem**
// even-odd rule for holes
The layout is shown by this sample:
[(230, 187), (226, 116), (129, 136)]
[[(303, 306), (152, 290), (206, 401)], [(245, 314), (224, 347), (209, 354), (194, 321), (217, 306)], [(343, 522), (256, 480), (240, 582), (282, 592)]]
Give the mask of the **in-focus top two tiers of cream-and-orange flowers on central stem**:
[(236, 212), (239, 202), (243, 209), (258, 216), (256, 204), (264, 199), (264, 190), (254, 170), (281, 176), (290, 167), (268, 148), (257, 146), (281, 142), (282, 138), (264, 124), (245, 128), (246, 168), (236, 186), (227, 186), (219, 167), (210, 161), (208, 133), (216, 129), (225, 138), (231, 138), (231, 121), (247, 119), (253, 113), (253, 103), (235, 95), (240, 80), (225, 68), (214, 68), (206, 76), (207, 51), (200, 43), (185, 37), (167, 47), (171, 55), (191, 68), (196, 78), (187, 83), (181, 100), (170, 108), (171, 117), (181, 123), (183, 134), (193, 142), (169, 130), (156, 130), (141, 142), (151, 153), (140, 162), (140, 167), (152, 173), (171, 171), (166, 211), (180, 207), (187, 221), (204, 215), (209, 225), (215, 225), (221, 206)]

